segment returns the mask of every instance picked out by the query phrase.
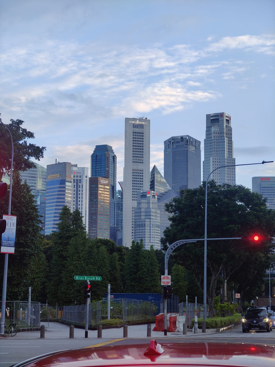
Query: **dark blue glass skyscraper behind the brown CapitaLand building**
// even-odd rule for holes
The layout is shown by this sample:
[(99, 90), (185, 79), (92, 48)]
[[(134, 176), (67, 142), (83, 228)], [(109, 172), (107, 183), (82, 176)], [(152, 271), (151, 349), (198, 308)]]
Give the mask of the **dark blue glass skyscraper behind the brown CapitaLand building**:
[(110, 229), (109, 239), (116, 241), (116, 155), (110, 145), (96, 145), (91, 155), (91, 177), (109, 179), (110, 186)]

